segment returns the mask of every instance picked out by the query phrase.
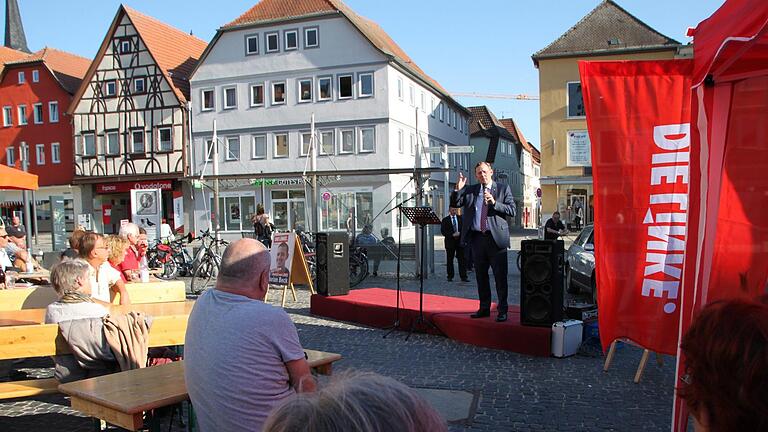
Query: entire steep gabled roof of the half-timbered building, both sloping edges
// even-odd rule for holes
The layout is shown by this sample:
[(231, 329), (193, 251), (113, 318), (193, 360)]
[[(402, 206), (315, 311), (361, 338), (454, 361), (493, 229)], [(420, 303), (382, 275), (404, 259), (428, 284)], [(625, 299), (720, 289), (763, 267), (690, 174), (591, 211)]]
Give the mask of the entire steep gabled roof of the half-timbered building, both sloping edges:
[(123, 15), (128, 16), (136, 28), (136, 32), (179, 99), (179, 103), (184, 104), (189, 100), (189, 76), (208, 43), (156, 18), (121, 5), (114, 20), (112, 20), (109, 31), (101, 42), (96, 58), (91, 63), (91, 67), (75, 95), (70, 110), (74, 109), (74, 106), (79, 102), (88, 83), (96, 73), (100, 60), (104, 56), (110, 40), (112, 40), (117, 25), (122, 21)]

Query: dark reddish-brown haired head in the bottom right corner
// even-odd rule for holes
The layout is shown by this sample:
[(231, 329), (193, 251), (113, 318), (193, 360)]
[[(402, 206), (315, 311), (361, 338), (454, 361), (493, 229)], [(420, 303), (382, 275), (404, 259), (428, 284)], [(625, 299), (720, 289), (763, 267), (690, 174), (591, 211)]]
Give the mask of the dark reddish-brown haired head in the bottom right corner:
[(678, 391), (697, 432), (768, 431), (768, 296), (706, 306), (681, 348)]

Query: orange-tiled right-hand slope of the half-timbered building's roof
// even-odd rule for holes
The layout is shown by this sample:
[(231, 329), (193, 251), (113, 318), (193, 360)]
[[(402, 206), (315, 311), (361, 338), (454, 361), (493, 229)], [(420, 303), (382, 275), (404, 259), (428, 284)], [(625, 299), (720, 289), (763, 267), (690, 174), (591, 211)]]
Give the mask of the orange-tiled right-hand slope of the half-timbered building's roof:
[(189, 75), (208, 43), (156, 18), (122, 6), (179, 100), (189, 100)]

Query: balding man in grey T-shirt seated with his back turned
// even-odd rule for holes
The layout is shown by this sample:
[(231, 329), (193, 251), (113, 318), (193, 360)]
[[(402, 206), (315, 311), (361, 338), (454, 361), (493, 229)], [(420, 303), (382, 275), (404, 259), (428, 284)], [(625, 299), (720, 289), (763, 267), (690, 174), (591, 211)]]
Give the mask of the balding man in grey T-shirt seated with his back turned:
[(275, 406), (315, 389), (296, 327), (264, 302), (270, 261), (257, 240), (230, 243), (189, 316), (184, 377), (203, 432), (259, 431)]

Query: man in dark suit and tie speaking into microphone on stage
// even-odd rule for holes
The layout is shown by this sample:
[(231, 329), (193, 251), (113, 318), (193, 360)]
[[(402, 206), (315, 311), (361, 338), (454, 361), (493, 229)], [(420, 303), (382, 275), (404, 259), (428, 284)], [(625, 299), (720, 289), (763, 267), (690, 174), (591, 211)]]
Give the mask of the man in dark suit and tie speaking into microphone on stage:
[(463, 208), (461, 241), (472, 248), (480, 308), (472, 318), (491, 314), (491, 287), (488, 268), (493, 269), (496, 294), (499, 297), (496, 321), (507, 320), (507, 217), (515, 217), (515, 202), (508, 185), (493, 181), (493, 167), (488, 162), (475, 165), (478, 184), (467, 186), (467, 178), (459, 173), (451, 194), (451, 207)]

